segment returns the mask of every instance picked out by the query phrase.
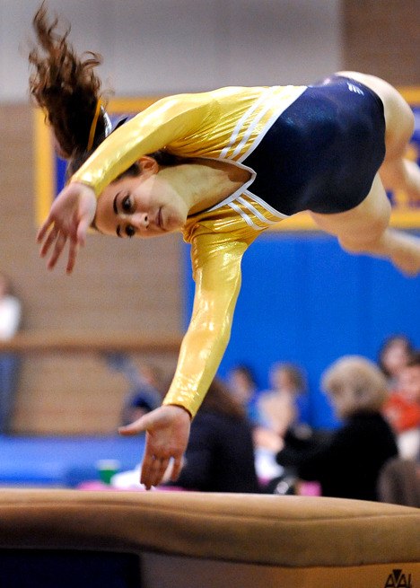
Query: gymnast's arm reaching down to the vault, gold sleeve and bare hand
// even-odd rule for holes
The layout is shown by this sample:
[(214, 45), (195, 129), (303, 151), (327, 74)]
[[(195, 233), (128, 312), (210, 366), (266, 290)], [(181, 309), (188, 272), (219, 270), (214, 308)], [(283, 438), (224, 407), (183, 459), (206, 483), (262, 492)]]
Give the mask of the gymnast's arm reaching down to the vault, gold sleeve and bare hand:
[[(163, 405), (120, 429), (146, 432), (141, 482), (156, 486), (171, 458), (176, 480), (188, 444), (189, 421), (206, 395), (230, 338), (233, 311), (241, 288), (241, 259), (249, 242), (204, 234), (193, 241), (196, 294), (177, 370)], [(188, 421), (188, 422), (187, 422)]]

